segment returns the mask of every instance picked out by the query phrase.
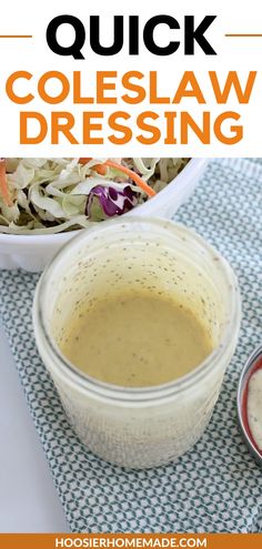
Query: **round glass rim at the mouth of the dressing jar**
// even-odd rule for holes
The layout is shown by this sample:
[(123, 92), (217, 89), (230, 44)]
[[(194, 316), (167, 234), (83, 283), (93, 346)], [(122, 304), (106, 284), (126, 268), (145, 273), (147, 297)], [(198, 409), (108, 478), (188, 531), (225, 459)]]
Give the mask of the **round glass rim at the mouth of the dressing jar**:
[[(89, 238), (90, 233), (97, 231), (99, 232), (100, 230), (104, 230), (104, 228), (107, 230), (108, 227), (111, 227), (112, 230), (113, 225), (131, 226), (134, 223), (139, 223), (139, 224), (147, 223), (148, 225), (153, 224), (154, 226), (159, 225), (161, 228), (165, 228), (169, 231), (182, 231), (192, 241), (194, 241), (195, 244), (204, 248), (210, 256), (212, 255), (213, 258), (215, 257), (216, 261), (219, 260), (220, 267), (222, 266), (224, 278), (229, 283), (231, 289), (230, 303), (229, 303), (229, 309), (231, 311), (231, 316), (226, 325), (226, 329), (224, 329), (221, 340), (216, 346), (216, 348), (214, 348), (214, 350), (210, 355), (208, 355), (208, 357), (199, 366), (193, 368), (188, 374), (174, 380), (150, 387), (124, 387), (120, 385), (109, 384), (100, 379), (97, 379), (94, 377), (91, 377), (88, 374), (81, 372), (79, 368), (77, 368), (61, 353), (54, 339), (50, 337), (42, 314), (43, 313), (41, 307), (42, 299), (40, 298), (40, 296), (43, 296), (44, 298), (44, 293), (47, 292), (47, 287), (48, 287), (48, 278), (52, 273), (52, 268), (57, 264), (59, 264), (59, 261), (63, 256), (64, 251), (69, 251), (71, 247), (74, 247), (81, 241), (85, 241), (85, 238)], [(151, 403), (153, 400), (159, 400), (163, 398), (164, 399), (172, 398), (179, 393), (189, 389), (194, 383), (201, 382), (201, 379), (204, 378), (204, 376), (208, 375), (212, 368), (215, 369), (215, 365), (221, 360), (221, 357), (225, 353), (230, 344), (230, 340), (232, 339), (232, 333), (238, 334), (240, 317), (241, 317), (241, 297), (240, 297), (240, 289), (239, 289), (236, 276), (232, 267), (228, 263), (228, 261), (216, 250), (214, 250), (213, 246), (211, 246), (208, 242), (205, 242), (205, 240), (199, 236), (198, 233), (195, 233), (193, 230), (188, 228), (185, 225), (181, 223), (171, 220), (163, 220), (160, 217), (140, 217), (134, 215), (130, 215), (124, 220), (114, 218), (114, 220), (105, 221), (102, 223), (102, 227), (101, 225), (95, 225), (94, 228), (89, 228), (87, 231), (83, 230), (77, 236), (71, 238), (66, 244), (66, 246), (59, 250), (59, 252), (56, 254), (56, 256), (50, 262), (48, 267), (44, 270), (39, 281), (34, 294), (34, 302), (33, 302), (33, 324), (34, 324), (36, 337), (37, 337), (37, 328), (39, 328), (41, 336), (43, 337), (43, 340), (47, 344), (49, 357), (52, 359), (52, 363), (56, 365), (56, 372), (59, 373), (60, 376), (63, 376), (63, 379), (67, 378), (68, 382), (72, 383), (73, 385), (77, 385), (78, 388), (83, 393), (88, 392), (93, 396), (95, 395), (97, 398), (103, 398), (114, 403), (122, 401), (127, 404), (132, 404), (132, 403), (142, 404), (145, 401)]]

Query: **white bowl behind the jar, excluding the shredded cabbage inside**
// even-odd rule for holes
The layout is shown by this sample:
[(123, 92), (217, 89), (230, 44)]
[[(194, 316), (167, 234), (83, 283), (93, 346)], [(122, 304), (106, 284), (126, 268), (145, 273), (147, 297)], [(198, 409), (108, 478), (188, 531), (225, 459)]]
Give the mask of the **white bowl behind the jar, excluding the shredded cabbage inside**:
[[(135, 209), (135, 215), (171, 218), (194, 191), (205, 165), (205, 159), (190, 160), (163, 191)], [(40, 272), (75, 234), (77, 231), (50, 235), (0, 234), (0, 268)]]

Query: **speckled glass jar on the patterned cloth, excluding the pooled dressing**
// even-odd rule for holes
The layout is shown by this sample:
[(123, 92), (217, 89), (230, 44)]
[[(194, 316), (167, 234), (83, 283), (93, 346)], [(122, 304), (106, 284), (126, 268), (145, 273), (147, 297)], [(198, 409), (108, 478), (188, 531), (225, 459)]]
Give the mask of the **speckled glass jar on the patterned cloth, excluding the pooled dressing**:
[[(88, 307), (127, 285), (161, 291), (191, 308), (212, 340), (208, 358), (173, 382), (128, 388), (92, 378), (62, 356), (59, 343), (83, 302)], [(128, 468), (168, 464), (201, 437), (235, 349), (240, 317), (235, 275), (216, 251), (183, 225), (134, 216), (95, 224), (72, 238), (44, 271), (33, 305), (39, 352), (69, 421), (87, 448)]]

